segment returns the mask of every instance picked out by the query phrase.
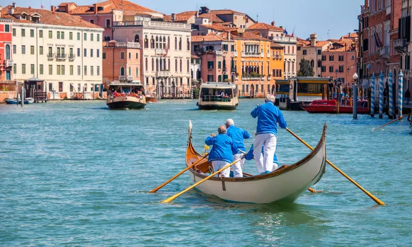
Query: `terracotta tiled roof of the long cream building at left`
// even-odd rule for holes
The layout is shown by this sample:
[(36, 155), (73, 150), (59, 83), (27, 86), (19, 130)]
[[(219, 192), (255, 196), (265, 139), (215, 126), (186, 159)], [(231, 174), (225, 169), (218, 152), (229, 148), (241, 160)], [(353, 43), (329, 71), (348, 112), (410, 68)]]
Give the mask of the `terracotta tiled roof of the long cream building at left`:
[[(3, 18), (12, 19), (15, 23), (33, 23), (30, 20), (21, 20), (16, 19), (16, 17), (9, 14), (11, 5), (5, 6), (1, 10), (1, 16)], [(34, 8), (21, 8), (16, 7), (14, 8), (15, 12), (27, 12), (27, 14), (34, 14), (38, 13), (41, 14), (40, 21), (41, 23), (47, 25), (63, 25), (63, 26), (73, 26), (73, 27), (90, 27), (90, 28), (102, 28), (98, 25), (94, 25), (89, 23), (89, 21), (84, 21), (80, 18), (80, 16), (73, 16), (71, 14), (62, 13), (62, 12), (52, 12), (50, 10), (41, 10), (41, 9), (34, 9)]]

